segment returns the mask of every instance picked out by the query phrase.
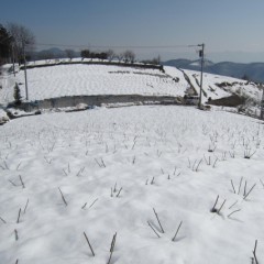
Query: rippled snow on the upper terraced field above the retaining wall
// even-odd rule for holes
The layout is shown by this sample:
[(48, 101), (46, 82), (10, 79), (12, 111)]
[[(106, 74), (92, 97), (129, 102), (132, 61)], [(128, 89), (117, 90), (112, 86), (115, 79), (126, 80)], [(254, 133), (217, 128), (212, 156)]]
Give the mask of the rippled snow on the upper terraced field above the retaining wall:
[[(30, 100), (79, 95), (184, 96), (187, 88), (183, 74), (182, 81), (175, 82), (158, 69), (84, 64), (28, 69), (28, 80)], [(23, 72), (18, 75), (18, 82), (24, 98)]]

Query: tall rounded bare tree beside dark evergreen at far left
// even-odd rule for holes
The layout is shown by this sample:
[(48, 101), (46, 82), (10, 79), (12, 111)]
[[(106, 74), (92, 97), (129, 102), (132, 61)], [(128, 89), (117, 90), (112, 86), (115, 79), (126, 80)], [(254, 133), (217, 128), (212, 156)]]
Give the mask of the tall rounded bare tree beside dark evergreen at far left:
[(30, 29), (16, 23), (8, 23), (7, 29), (13, 40), (14, 55), (18, 61), (21, 61), (24, 48), (28, 53), (34, 50), (35, 36)]

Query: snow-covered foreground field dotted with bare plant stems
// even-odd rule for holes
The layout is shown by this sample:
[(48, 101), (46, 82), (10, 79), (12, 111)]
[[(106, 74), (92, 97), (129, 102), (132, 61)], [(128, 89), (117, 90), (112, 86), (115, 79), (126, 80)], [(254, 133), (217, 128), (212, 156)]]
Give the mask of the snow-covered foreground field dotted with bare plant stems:
[(0, 127), (0, 263), (108, 263), (116, 232), (111, 264), (249, 264), (255, 240), (262, 263), (263, 135), (257, 120), (186, 107), (12, 120)]

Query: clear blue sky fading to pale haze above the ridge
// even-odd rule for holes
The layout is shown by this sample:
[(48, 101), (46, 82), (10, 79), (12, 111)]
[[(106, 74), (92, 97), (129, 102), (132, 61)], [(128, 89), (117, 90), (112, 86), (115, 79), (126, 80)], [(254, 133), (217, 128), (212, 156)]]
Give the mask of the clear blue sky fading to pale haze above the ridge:
[(31, 29), (37, 50), (132, 46), (139, 58), (197, 58), (186, 46), (205, 43), (215, 62), (264, 62), (264, 0), (0, 1), (0, 23)]

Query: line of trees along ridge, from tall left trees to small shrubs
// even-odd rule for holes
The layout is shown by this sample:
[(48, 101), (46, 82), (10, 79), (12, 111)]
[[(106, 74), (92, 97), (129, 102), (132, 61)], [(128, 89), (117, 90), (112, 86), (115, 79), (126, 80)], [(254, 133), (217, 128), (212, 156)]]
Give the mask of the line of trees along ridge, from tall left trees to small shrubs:
[[(0, 24), (0, 65), (6, 63), (24, 63), (30, 59), (52, 59), (68, 57), (74, 58), (78, 55), (82, 59), (113, 59), (119, 63), (131, 63), (135, 62), (135, 54), (133, 51), (127, 50), (124, 52), (116, 53), (113, 50), (103, 52), (92, 52), (90, 50), (82, 50), (80, 53), (76, 53), (74, 50), (65, 50), (59, 55), (55, 55), (50, 51), (34, 52), (35, 36), (30, 29), (16, 24), (8, 23), (7, 25)], [(160, 64), (160, 56), (150, 61), (143, 61), (145, 64)]]

